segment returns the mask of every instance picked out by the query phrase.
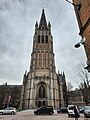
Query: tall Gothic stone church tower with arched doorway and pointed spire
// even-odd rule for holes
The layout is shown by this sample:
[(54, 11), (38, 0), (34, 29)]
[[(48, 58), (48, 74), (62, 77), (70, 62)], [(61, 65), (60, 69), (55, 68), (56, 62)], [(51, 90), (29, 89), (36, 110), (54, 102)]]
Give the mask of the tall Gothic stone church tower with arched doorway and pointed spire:
[(30, 70), (23, 77), (21, 108), (64, 106), (62, 84), (65, 76), (56, 73), (54, 57), (51, 24), (47, 25), (43, 9), (40, 23), (35, 24)]

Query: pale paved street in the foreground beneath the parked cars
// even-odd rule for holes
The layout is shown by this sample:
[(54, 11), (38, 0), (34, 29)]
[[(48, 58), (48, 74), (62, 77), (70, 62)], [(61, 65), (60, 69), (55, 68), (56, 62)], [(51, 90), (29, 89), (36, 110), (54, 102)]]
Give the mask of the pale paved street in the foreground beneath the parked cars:
[[(74, 120), (75, 118), (68, 118), (67, 114), (58, 114), (56, 111), (53, 115), (34, 115), (34, 110), (25, 110), (17, 112), (16, 115), (0, 115), (0, 120)], [(84, 118), (81, 114), (79, 120), (90, 120)]]

